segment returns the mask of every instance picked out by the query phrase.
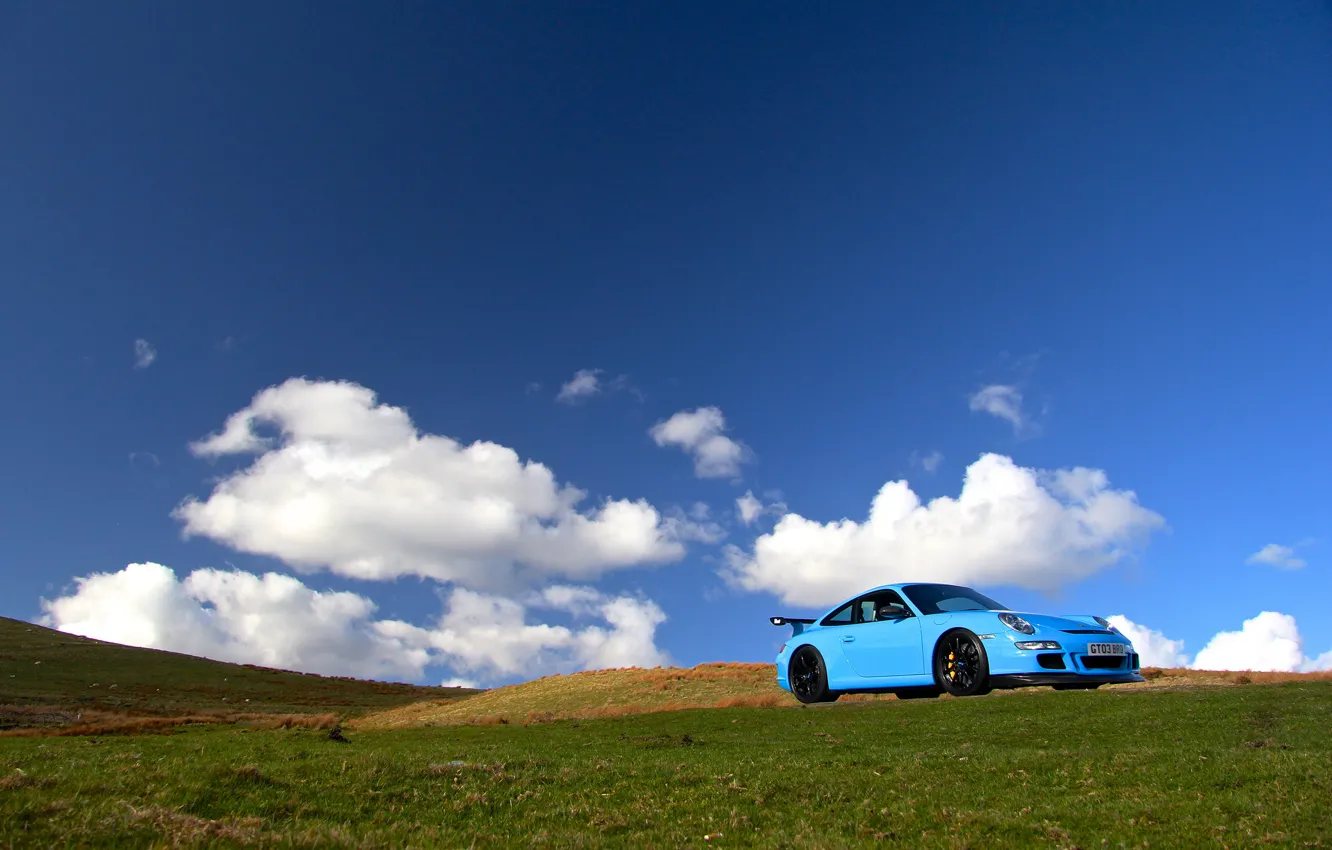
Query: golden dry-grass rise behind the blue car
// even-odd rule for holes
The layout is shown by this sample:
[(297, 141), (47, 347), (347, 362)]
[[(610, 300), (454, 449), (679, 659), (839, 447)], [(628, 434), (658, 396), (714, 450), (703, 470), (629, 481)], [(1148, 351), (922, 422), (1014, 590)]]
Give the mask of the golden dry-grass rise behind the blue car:
[[(1147, 679), (1114, 687), (1269, 685), (1332, 679), (1332, 673), (1220, 673), (1144, 669)], [(1006, 693), (1006, 691), (999, 691)], [(1024, 691), (1016, 691), (1024, 693)], [(895, 699), (887, 694), (850, 694), (843, 702)], [(697, 667), (625, 667), (547, 675), (497, 687), (466, 699), (401, 706), (352, 721), (360, 729), (502, 723), (626, 717), (682, 709), (783, 707), (799, 705), (777, 686), (771, 663), (713, 662)]]

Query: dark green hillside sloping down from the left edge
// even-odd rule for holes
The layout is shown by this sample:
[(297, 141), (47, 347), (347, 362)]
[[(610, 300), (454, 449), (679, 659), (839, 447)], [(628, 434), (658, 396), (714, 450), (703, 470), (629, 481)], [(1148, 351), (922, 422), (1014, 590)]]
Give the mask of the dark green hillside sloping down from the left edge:
[(83, 715), (357, 715), (477, 691), (273, 670), (93, 641), (0, 617), (0, 729)]

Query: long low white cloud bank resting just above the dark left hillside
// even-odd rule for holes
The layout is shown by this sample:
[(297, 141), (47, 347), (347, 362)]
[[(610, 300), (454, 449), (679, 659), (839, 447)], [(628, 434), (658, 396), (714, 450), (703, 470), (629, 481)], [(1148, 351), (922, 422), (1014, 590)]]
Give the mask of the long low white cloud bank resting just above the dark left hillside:
[[(529, 609), (595, 622), (577, 628), (529, 622)], [(131, 646), (240, 663), (420, 681), (446, 665), (452, 682), (477, 678), (670, 663), (655, 645), (666, 616), (650, 600), (557, 585), (526, 604), (454, 588), (429, 626), (376, 620), (356, 593), (321, 593), (278, 573), (194, 570), (184, 580), (159, 564), (76, 580), (69, 596), (43, 601), (52, 628)]]

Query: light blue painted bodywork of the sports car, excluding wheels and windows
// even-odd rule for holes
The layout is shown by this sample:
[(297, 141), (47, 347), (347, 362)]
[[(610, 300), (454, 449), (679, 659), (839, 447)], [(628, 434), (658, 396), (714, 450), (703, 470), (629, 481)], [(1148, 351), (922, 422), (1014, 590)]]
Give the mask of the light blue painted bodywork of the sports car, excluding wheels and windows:
[[(1050, 616), (1010, 610), (955, 610), (926, 614), (903, 589), (928, 582), (880, 585), (843, 600), (823, 616), (813, 620), (773, 617), (774, 625), (790, 625), (794, 634), (777, 655), (777, 682), (790, 690), (791, 655), (802, 646), (814, 646), (823, 655), (829, 689), (840, 693), (888, 693), (896, 689), (935, 686), (934, 649), (939, 638), (954, 629), (966, 629), (980, 638), (990, 663), (994, 687), (1026, 685), (1102, 685), (1142, 682), (1139, 657), (1132, 641), (1123, 633), (1106, 628), (1092, 616)], [(864, 597), (891, 590), (898, 594), (910, 616), (872, 622), (826, 622), (834, 613)], [(970, 589), (964, 589), (970, 590)], [(1000, 620), (1016, 614), (1034, 629), (1018, 632)], [(1058, 650), (1019, 649), (1022, 642), (1052, 641)], [(1123, 645), (1098, 647), (1092, 643)]]

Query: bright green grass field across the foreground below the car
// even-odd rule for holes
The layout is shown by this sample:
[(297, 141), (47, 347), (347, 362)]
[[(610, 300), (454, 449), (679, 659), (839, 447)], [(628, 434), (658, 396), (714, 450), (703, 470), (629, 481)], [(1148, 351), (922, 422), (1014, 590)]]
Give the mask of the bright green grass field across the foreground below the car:
[(1328, 729), (1304, 682), (11, 738), (0, 846), (1316, 846)]

